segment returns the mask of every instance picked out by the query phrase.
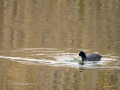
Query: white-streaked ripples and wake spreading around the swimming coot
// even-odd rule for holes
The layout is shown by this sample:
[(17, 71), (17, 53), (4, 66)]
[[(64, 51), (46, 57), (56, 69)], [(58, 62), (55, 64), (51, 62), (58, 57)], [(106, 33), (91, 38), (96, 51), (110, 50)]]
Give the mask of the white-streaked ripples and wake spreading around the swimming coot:
[[(86, 61), (84, 65), (80, 65), (79, 61), (72, 61), (77, 57), (76, 55), (78, 55), (78, 53), (72, 53), (69, 52), (68, 49), (66, 50), (54, 48), (24, 48), (22, 50), (12, 51), (8, 56), (1, 55), (0, 58), (9, 59), (26, 65), (49, 65), (82, 69), (120, 69), (118, 64), (113, 63), (117, 62), (119, 57), (112, 56), (113, 54), (102, 55), (103, 58), (101, 61)], [(79, 58), (79, 60), (81, 60), (81, 58)]]

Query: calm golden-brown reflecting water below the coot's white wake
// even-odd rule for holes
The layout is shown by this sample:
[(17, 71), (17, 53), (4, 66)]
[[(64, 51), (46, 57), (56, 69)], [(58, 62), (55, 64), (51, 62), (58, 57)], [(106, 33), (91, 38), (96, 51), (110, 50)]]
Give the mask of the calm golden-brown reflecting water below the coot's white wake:
[[(13, 63), (11, 63), (13, 64)], [(16, 64), (16, 63), (15, 63)], [(15, 65), (14, 64), (14, 65)], [(17, 64), (18, 65), (18, 64)], [(5, 76), (5, 85), (9, 88), (36, 89), (118, 89), (119, 71), (113, 70), (61, 70), (60, 68), (42, 68), (39, 66), (15, 65), (9, 68)], [(16, 69), (15, 69), (16, 68)], [(11, 71), (12, 70), (12, 71)], [(47, 87), (46, 87), (47, 86)], [(31, 87), (31, 88), (29, 88)]]

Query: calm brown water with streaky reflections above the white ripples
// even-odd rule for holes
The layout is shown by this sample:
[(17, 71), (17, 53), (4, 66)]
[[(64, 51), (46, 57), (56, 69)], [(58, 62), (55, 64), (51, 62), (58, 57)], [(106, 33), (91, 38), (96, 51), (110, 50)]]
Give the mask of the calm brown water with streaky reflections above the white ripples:
[(118, 50), (118, 3), (118, 0), (3, 1), (0, 48)]

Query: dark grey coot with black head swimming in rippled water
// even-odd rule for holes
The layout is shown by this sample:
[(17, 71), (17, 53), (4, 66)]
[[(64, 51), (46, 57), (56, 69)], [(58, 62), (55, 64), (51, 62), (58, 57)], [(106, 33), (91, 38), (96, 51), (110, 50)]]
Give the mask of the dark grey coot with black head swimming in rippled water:
[(79, 53), (79, 56), (82, 57), (82, 61), (100, 61), (100, 59), (102, 58), (101, 55), (99, 54), (89, 54), (89, 55), (85, 55), (85, 53), (83, 51), (81, 51)]

